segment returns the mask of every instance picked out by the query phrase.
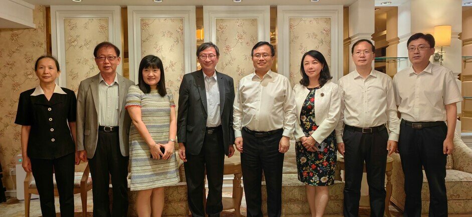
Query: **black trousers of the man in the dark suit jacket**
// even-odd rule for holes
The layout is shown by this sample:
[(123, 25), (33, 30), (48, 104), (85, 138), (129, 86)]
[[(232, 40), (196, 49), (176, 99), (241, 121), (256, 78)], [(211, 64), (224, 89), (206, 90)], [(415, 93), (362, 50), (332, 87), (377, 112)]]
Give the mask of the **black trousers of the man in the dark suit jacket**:
[(192, 216), (203, 217), (205, 215), (203, 205), (205, 169), (208, 180), (206, 213), (209, 216), (220, 216), (220, 212), (223, 210), (221, 194), (225, 165), (221, 127), (213, 131), (212, 134), (208, 132), (208, 129), (206, 130), (203, 146), (199, 154), (192, 155), (186, 153), (185, 155), (187, 157), (187, 162), (184, 163), (185, 177), (187, 179), (187, 193)]

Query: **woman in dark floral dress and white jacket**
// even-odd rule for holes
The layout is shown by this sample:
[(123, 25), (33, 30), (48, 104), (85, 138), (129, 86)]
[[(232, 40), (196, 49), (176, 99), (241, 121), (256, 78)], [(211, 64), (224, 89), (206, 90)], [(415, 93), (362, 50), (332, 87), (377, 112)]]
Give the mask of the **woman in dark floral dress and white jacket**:
[(311, 216), (323, 216), (328, 185), (334, 184), (336, 166), (335, 127), (341, 98), (323, 54), (316, 50), (301, 58), (300, 84), (293, 87), (298, 117), (295, 124), (298, 180), (306, 184)]

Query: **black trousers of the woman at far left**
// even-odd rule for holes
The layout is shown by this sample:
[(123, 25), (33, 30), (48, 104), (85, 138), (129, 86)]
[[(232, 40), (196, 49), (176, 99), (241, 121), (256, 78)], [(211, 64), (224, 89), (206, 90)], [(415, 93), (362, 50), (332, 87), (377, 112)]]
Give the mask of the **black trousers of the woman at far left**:
[(30, 158), (43, 216), (56, 216), (53, 168), (56, 175), (61, 216), (74, 216), (75, 153), (56, 159)]

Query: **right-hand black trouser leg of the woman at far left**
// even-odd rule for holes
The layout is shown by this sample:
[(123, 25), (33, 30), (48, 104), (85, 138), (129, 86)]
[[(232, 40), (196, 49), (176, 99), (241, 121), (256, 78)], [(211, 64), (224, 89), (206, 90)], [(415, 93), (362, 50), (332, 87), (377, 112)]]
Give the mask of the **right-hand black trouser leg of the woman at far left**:
[(54, 159), (61, 216), (74, 216), (75, 153)]

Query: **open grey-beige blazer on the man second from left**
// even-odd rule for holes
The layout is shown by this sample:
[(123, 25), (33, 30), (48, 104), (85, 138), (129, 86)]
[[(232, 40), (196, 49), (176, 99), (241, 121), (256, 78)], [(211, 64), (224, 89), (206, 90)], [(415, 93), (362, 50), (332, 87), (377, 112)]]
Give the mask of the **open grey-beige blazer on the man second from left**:
[[(118, 94), (119, 94), (119, 142), (120, 150), (123, 156), (128, 155), (128, 137), (131, 118), (124, 109), (125, 98), (128, 88), (134, 85), (134, 82), (119, 75), (118, 76)], [(89, 77), (80, 81), (77, 93), (77, 150), (86, 150), (87, 158), (95, 155), (98, 141), (98, 83), (100, 75)]]

